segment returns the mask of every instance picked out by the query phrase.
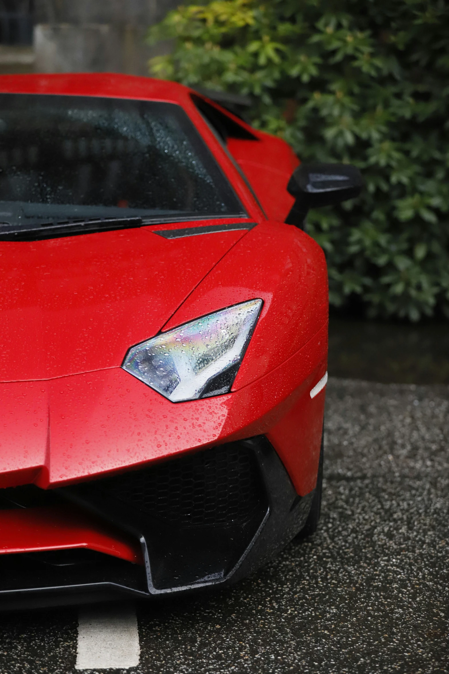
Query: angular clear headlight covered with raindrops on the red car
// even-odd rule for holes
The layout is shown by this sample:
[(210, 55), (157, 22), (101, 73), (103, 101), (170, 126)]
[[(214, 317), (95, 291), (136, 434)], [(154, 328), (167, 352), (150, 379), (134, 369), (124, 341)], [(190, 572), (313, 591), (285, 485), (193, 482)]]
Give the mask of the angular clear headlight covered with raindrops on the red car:
[(122, 367), (172, 402), (228, 393), (261, 307), (253, 299), (164, 332), (133, 346)]

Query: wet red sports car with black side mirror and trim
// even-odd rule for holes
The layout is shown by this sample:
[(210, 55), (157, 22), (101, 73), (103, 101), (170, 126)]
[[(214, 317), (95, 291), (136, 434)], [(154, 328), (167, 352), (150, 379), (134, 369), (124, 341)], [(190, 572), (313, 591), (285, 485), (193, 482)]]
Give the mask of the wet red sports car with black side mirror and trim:
[(223, 586), (315, 530), (302, 223), (360, 187), (179, 84), (0, 78), (0, 608)]

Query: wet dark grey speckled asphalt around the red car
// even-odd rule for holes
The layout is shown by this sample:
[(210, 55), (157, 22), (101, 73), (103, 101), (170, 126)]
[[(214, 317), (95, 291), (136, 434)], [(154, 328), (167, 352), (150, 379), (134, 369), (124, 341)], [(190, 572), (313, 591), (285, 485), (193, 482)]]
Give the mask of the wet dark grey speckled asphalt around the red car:
[[(234, 588), (137, 607), (123, 671), (448, 673), (448, 441), (448, 386), (330, 379), (318, 532)], [(76, 650), (77, 609), (0, 615), (1, 674), (74, 673)]]

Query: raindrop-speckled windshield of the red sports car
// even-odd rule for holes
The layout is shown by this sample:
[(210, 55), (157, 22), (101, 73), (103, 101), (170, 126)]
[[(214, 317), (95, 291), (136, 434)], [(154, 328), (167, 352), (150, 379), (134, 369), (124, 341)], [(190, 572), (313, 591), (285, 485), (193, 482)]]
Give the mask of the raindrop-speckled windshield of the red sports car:
[(0, 94), (0, 233), (238, 214), (242, 204), (180, 106)]

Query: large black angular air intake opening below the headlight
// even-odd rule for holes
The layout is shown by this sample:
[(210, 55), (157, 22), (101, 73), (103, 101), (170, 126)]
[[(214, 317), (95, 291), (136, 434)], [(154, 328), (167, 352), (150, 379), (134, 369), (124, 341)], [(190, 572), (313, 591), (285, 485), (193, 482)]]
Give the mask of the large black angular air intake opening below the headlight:
[(152, 592), (230, 574), (268, 511), (248, 441), (184, 454), (64, 490), (145, 541)]

